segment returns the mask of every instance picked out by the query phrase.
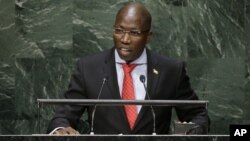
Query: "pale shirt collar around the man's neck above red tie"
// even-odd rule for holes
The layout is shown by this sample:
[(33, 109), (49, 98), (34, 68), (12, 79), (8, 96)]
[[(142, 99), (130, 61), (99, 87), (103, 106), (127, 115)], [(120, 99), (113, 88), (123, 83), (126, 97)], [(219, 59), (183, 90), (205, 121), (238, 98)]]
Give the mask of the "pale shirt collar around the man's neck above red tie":
[[(115, 49), (115, 62), (119, 64), (126, 63), (125, 60), (121, 59), (116, 49)], [(147, 63), (146, 49), (143, 50), (141, 56), (139, 56), (137, 59), (131, 62), (131, 64), (146, 64), (146, 63)]]

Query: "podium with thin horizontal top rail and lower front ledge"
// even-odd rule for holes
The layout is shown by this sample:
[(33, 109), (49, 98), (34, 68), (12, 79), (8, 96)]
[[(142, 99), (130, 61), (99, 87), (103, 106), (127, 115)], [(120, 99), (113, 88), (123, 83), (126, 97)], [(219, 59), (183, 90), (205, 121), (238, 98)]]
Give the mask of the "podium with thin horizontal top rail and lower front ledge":
[[(38, 99), (38, 118), (40, 110), (45, 105), (73, 104), (90, 106), (119, 106), (119, 105), (144, 105), (144, 106), (180, 106), (180, 105), (200, 105), (208, 101), (190, 100), (76, 100), (76, 99)], [(40, 123), (40, 118), (38, 119)], [(39, 132), (40, 133), (40, 132)], [(229, 141), (229, 135), (0, 135), (0, 141)]]

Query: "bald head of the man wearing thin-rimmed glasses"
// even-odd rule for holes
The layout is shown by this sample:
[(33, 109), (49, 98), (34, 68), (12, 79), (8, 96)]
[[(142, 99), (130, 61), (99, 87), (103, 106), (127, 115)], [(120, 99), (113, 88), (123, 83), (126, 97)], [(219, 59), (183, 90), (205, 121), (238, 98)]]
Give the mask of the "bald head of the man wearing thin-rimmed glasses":
[(131, 62), (141, 55), (152, 35), (150, 28), (151, 15), (142, 4), (131, 3), (118, 11), (113, 39), (123, 60)]

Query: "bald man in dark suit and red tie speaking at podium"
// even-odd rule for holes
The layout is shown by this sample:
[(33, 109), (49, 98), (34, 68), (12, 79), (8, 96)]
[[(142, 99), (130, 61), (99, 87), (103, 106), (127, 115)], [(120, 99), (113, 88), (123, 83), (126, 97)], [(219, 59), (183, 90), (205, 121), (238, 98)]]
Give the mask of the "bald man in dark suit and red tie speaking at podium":
[[(146, 48), (152, 36), (151, 15), (142, 4), (130, 3), (122, 7), (116, 15), (113, 28), (114, 48), (81, 58), (77, 62), (69, 88), (64, 94), (66, 99), (198, 99), (190, 86), (183, 62)], [(125, 67), (130, 66), (133, 68), (127, 74)], [(149, 96), (140, 82), (142, 75), (145, 76)], [(102, 84), (102, 93), (98, 96)], [(58, 107), (48, 133), (79, 134), (77, 127), (81, 126), (79, 120), (85, 109), (88, 110), (91, 123), (93, 107)], [(168, 134), (172, 107), (159, 106), (153, 109), (156, 133)], [(180, 121), (193, 122), (200, 127), (199, 133), (206, 133), (209, 119), (204, 106), (177, 106), (175, 110)], [(93, 127), (96, 134), (151, 134), (153, 122), (149, 106), (98, 106)]]

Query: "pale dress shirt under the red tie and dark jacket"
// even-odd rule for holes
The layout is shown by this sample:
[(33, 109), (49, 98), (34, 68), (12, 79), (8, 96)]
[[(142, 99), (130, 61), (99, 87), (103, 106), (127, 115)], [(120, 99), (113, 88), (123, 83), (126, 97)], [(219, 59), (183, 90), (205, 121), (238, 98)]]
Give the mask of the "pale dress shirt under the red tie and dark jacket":
[[(118, 86), (120, 91), (120, 96), (122, 97), (122, 86), (123, 86), (123, 78), (124, 78), (124, 72), (122, 68), (122, 64), (126, 63), (126, 61), (122, 60), (117, 52), (115, 50), (115, 62), (116, 62), (116, 72), (117, 72), (117, 80), (118, 80)], [(146, 78), (146, 85), (147, 85), (147, 54), (146, 49), (142, 52), (141, 56), (131, 62), (130, 64), (136, 64), (136, 67), (131, 72), (132, 78), (133, 78), (133, 84), (134, 84), (134, 90), (135, 90), (135, 99), (136, 100), (144, 100), (146, 96), (146, 91), (144, 89), (144, 86), (142, 82), (140, 81), (140, 75), (144, 75)], [(141, 105), (137, 105), (137, 113), (139, 113), (141, 110)]]

